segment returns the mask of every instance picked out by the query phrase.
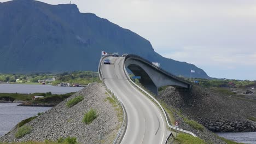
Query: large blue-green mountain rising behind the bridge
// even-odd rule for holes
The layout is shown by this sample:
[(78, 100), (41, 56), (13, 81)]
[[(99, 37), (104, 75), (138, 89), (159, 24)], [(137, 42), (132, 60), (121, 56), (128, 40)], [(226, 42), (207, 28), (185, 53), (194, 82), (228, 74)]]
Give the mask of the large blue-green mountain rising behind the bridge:
[(97, 70), (101, 51), (133, 53), (159, 62), (176, 75), (209, 78), (193, 64), (156, 53), (150, 42), (129, 29), (75, 4), (33, 0), (0, 3), (0, 73)]

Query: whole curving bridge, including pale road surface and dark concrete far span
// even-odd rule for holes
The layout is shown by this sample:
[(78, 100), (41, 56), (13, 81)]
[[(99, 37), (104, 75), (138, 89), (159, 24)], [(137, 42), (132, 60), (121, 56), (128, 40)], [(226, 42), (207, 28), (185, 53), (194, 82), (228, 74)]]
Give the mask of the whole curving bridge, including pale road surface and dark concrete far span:
[[(103, 64), (104, 58), (109, 58), (111, 64)], [(119, 142), (165, 143), (168, 137), (167, 126), (174, 127), (167, 122), (166, 113), (161, 106), (159, 109), (158, 101), (156, 102), (158, 105), (156, 105), (135, 87), (135, 83), (132, 84), (125, 67), (129, 68), (133, 74), (141, 76), (143, 85), (155, 93), (157, 93), (156, 88), (164, 85), (186, 89), (189, 89), (191, 85), (136, 55), (127, 55), (126, 57), (107, 55), (101, 58), (98, 68), (100, 79), (112, 93), (117, 95), (125, 107), (124, 115), (127, 115), (127, 126), (123, 130)], [(154, 98), (152, 97), (152, 99)], [(178, 130), (195, 136), (190, 131)]]

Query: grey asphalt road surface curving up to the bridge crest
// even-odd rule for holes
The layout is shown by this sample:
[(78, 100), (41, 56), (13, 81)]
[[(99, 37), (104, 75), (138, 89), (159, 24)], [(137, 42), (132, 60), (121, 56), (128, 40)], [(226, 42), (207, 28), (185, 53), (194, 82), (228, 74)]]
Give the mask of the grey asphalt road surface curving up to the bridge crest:
[(127, 112), (127, 130), (121, 143), (164, 143), (166, 123), (160, 109), (127, 80), (124, 57), (108, 58), (110, 65), (102, 62), (103, 78)]

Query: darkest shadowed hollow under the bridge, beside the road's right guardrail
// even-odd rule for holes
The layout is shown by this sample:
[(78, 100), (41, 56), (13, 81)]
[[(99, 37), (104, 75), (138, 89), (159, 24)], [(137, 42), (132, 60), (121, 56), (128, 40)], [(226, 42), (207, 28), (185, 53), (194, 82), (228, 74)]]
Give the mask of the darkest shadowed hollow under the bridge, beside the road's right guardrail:
[(127, 68), (132, 72), (133, 75), (141, 76), (141, 79), (138, 79), (138, 81), (143, 87), (147, 88), (155, 95), (158, 95), (158, 87), (156, 87), (155, 83), (152, 81), (152, 79), (149, 77), (144, 69), (136, 64), (130, 64)]

